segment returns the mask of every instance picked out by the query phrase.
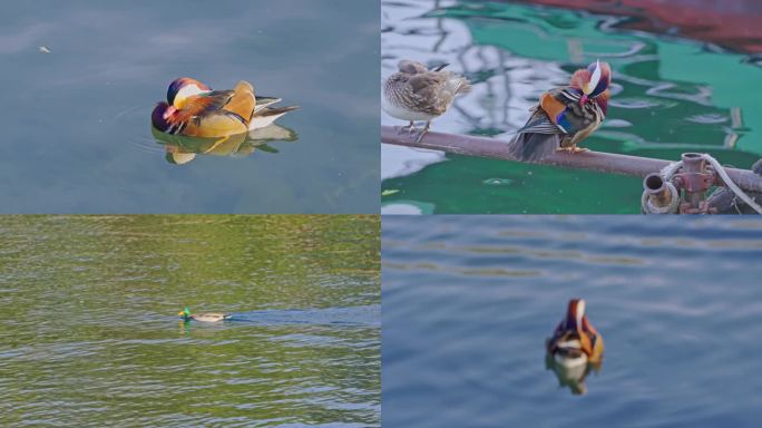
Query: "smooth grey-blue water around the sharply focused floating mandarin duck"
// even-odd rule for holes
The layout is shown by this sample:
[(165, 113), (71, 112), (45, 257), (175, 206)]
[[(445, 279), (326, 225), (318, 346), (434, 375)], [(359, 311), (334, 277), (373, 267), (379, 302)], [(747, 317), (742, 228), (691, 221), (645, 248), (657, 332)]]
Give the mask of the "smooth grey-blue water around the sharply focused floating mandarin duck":
[[(7, 2), (0, 212), (375, 213), (378, 40), (353, 0)], [(297, 140), (167, 163), (150, 111), (180, 76), (299, 105)]]

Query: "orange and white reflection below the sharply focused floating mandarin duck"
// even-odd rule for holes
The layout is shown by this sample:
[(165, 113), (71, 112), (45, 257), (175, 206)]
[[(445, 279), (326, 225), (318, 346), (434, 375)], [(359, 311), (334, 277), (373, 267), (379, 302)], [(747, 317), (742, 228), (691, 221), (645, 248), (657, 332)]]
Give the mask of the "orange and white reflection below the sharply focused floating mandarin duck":
[(154, 127), (152, 127), (152, 134), (156, 138), (156, 143), (164, 146), (167, 162), (174, 165), (187, 164), (197, 155), (243, 157), (252, 155), (257, 149), (277, 153), (279, 150), (272, 147), (270, 143), (299, 139), (293, 129), (275, 124), (245, 134), (215, 138), (172, 135), (162, 133)]

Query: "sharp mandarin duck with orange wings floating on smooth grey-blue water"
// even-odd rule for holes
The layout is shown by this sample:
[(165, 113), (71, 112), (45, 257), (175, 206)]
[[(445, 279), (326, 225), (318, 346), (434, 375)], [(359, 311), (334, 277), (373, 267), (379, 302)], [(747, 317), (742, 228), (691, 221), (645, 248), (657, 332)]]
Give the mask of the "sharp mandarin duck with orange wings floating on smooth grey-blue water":
[(247, 81), (233, 90), (212, 90), (196, 79), (182, 77), (169, 85), (167, 103), (152, 114), (154, 127), (188, 137), (225, 137), (245, 134), (275, 121), (296, 107), (272, 107), (280, 98), (255, 97)]

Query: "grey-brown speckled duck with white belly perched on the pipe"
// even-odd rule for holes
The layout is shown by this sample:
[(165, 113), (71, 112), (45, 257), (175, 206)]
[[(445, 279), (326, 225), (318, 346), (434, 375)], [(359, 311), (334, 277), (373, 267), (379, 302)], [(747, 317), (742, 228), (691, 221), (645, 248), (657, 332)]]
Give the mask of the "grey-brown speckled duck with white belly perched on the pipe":
[[(442, 71), (444, 64), (431, 70), (420, 62), (403, 59), (399, 71), (389, 76), (383, 85), (382, 108), (390, 116), (409, 120), (409, 132), (416, 129), (414, 120), (426, 120), (426, 127), (418, 137), (429, 130), (431, 120), (443, 115), (456, 96), (466, 94), (471, 84), (462, 76)], [(402, 128), (404, 129), (404, 128)]]

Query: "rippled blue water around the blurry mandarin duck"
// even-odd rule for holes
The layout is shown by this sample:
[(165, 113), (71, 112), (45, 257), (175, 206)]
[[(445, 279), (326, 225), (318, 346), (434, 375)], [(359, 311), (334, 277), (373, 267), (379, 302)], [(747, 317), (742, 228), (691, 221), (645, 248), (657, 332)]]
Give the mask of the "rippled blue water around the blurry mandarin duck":
[[(756, 427), (762, 223), (383, 221), (387, 427)], [(572, 395), (545, 338), (580, 296), (605, 338)]]

